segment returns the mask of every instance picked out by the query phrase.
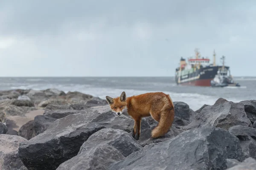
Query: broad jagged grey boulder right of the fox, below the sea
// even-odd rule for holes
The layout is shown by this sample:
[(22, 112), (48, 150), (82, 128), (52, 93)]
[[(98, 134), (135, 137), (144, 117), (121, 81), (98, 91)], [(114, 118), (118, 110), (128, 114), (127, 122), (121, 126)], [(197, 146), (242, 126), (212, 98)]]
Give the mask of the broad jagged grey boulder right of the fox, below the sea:
[(234, 102), (223, 102), (205, 107), (195, 116), (192, 122), (184, 126), (184, 129), (192, 129), (204, 126), (221, 127), (228, 130), (235, 125), (252, 127), (250, 120), (244, 111), (244, 105)]

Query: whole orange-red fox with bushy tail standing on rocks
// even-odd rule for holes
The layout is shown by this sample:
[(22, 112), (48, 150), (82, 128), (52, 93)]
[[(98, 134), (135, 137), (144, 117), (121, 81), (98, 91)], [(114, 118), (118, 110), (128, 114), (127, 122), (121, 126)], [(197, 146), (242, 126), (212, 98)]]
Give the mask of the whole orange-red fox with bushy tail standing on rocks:
[(106, 96), (111, 110), (121, 115), (124, 108), (134, 119), (132, 137), (136, 140), (140, 137), (140, 123), (143, 117), (152, 116), (158, 123), (151, 132), (152, 138), (163, 136), (168, 132), (174, 120), (174, 105), (169, 94), (162, 92), (145, 93), (126, 98), (125, 92), (119, 97)]

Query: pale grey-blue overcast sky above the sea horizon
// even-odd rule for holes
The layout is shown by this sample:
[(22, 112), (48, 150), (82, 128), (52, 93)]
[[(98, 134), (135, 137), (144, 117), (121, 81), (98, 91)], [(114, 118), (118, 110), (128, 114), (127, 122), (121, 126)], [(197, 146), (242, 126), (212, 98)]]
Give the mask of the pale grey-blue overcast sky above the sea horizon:
[(253, 0), (0, 0), (0, 76), (174, 76), (180, 57), (256, 76)]

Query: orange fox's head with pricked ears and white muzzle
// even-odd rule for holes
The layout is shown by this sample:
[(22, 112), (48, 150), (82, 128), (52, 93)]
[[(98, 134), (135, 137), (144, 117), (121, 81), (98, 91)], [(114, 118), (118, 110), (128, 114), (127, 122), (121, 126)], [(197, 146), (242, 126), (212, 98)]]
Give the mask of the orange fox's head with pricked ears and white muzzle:
[(119, 97), (111, 98), (110, 96), (106, 96), (106, 100), (108, 105), (112, 111), (116, 112), (118, 116), (122, 114), (123, 109), (126, 107), (126, 94), (123, 91)]

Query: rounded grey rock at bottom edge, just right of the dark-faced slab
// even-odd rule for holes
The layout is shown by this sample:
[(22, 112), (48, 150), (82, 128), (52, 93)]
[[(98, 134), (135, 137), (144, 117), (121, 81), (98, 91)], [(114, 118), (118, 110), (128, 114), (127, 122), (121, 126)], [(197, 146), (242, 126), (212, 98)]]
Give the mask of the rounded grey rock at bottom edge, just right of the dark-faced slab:
[(114, 147), (99, 144), (60, 164), (56, 170), (107, 170), (111, 163), (122, 159), (125, 157)]

